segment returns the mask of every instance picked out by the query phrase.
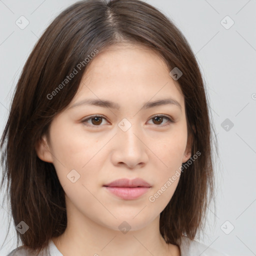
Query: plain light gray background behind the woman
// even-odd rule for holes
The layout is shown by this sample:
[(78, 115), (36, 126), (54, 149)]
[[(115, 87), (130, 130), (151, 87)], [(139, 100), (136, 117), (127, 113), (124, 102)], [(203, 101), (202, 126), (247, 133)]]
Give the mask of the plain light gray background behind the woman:
[[(32, 47), (50, 21), (74, 2), (0, 0), (1, 132), (13, 88)], [(199, 62), (212, 110), (217, 134), (213, 139), (219, 145), (219, 158), (215, 160), (216, 211), (209, 208), (204, 236), (199, 241), (229, 255), (256, 255), (256, 0), (146, 2), (169, 16), (187, 38)], [(15, 24), (16, 20), (21, 22), (21, 15), (29, 21), (24, 29)], [(229, 27), (232, 20), (234, 24)], [(16, 242), (11, 223), (3, 243), (9, 213), (7, 203), (0, 205), (3, 256)]]

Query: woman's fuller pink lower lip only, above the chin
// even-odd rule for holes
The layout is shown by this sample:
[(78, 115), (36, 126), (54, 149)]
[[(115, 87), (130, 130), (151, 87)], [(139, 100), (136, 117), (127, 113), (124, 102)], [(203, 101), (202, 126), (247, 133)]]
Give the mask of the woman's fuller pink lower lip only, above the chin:
[(136, 199), (146, 193), (150, 187), (117, 187), (105, 186), (108, 191), (126, 200)]

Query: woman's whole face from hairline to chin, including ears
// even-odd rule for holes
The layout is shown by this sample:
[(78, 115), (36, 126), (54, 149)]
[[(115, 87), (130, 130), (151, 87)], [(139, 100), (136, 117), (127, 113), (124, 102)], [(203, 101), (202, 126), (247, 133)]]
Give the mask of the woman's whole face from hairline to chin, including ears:
[[(111, 46), (91, 60), (37, 148), (39, 158), (53, 163), (71, 214), (114, 230), (125, 220), (136, 230), (167, 205), (179, 167), (191, 156), (184, 98), (169, 71), (139, 45)], [(121, 178), (147, 186), (105, 186)]]

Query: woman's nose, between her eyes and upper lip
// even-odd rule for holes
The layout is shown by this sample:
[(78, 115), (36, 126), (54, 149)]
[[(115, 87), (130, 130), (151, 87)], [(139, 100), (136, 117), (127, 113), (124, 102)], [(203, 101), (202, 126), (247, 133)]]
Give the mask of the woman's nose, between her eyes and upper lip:
[(126, 131), (117, 128), (111, 161), (115, 166), (126, 165), (128, 168), (142, 167), (147, 163), (145, 137), (135, 124)]

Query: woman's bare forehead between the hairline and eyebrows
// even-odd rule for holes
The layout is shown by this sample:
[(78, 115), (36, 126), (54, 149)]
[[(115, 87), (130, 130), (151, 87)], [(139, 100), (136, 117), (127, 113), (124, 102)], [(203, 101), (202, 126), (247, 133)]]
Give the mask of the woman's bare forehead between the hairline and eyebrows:
[(170, 96), (183, 108), (183, 95), (169, 71), (162, 57), (144, 45), (111, 45), (90, 60), (72, 102), (92, 96), (121, 105), (125, 99), (146, 102)]

